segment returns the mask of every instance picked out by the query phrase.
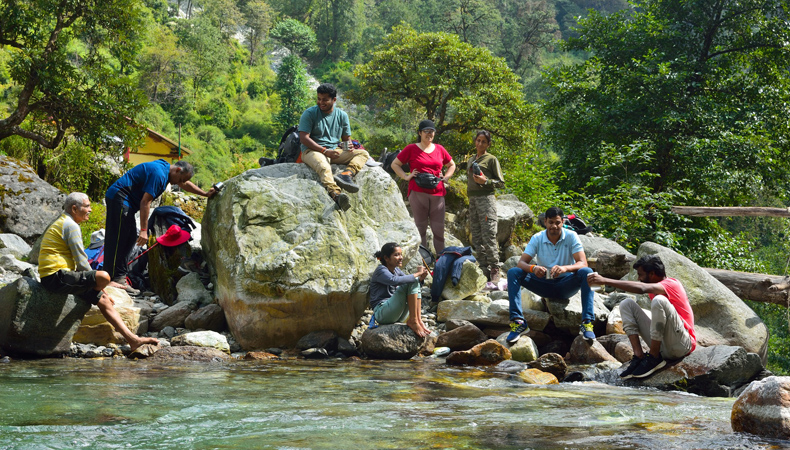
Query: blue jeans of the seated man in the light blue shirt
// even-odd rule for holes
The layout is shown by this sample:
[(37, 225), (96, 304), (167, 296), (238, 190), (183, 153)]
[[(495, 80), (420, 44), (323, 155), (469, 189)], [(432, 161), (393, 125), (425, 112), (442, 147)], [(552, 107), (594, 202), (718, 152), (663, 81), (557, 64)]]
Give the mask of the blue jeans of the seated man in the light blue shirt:
[(547, 298), (571, 298), (582, 291), (582, 322), (595, 320), (593, 313), (593, 292), (587, 284), (587, 275), (592, 273), (589, 267), (583, 267), (572, 275), (547, 280), (535, 274), (524, 272), (518, 267), (507, 271), (507, 296), (510, 300), (510, 321), (524, 320), (521, 309), (521, 286)]

